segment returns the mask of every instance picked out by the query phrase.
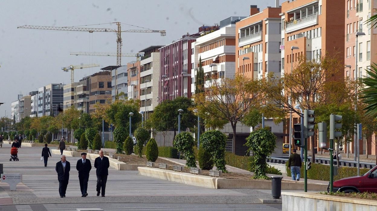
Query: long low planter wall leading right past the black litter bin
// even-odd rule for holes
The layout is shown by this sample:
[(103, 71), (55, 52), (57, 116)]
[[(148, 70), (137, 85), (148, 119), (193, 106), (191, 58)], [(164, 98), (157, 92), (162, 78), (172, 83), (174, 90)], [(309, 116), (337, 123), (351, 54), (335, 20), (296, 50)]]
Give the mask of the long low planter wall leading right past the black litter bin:
[[(158, 168), (139, 167), (139, 174), (159, 179), (213, 189), (271, 189), (271, 180), (236, 180), (175, 172)], [(282, 182), (283, 190), (303, 190), (302, 182)], [(327, 185), (308, 183), (310, 191), (325, 191)]]

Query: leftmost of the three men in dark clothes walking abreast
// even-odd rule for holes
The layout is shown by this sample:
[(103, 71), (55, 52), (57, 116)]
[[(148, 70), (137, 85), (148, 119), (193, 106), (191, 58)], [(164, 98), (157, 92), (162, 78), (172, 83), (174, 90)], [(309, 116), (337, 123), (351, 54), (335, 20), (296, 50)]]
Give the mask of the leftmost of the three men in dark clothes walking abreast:
[(56, 163), (55, 171), (58, 173), (60, 198), (66, 197), (66, 190), (69, 180), (70, 163), (65, 155), (60, 156), (61, 161)]

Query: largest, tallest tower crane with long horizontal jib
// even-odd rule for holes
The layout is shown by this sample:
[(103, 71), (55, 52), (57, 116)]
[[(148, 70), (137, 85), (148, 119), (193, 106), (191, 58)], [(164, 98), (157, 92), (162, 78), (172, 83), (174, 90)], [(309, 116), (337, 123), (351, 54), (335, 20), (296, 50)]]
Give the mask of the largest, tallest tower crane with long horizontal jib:
[(60, 30), (60, 31), (87, 31), (89, 33), (93, 32), (116, 32), (116, 65), (121, 66), (121, 47), (122, 47), (122, 38), (121, 32), (152, 32), (152, 33), (160, 33), (161, 36), (166, 35), (166, 30), (152, 30), (152, 29), (143, 29), (143, 30), (136, 30), (136, 29), (129, 29), (122, 31), (121, 30), (121, 23), (120, 22), (113, 22), (118, 26), (118, 29), (108, 29), (108, 28), (79, 28), (79, 27), (56, 27), (56, 26), (32, 26), (32, 25), (24, 25), (18, 26), (17, 28), (25, 28), (25, 29), (45, 29), (45, 30)]

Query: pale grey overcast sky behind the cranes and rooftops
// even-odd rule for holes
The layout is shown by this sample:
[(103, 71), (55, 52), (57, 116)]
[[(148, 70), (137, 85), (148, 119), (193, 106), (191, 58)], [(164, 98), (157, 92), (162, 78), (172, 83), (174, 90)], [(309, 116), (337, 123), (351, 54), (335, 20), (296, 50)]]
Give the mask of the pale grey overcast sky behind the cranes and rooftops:
[[(281, 3), (285, 0), (280, 0)], [(230, 16), (248, 16), (250, 5), (261, 11), (275, 0), (1, 0), (0, 1), (0, 117), (11, 113), (17, 94), (28, 95), (49, 83), (70, 83), (70, 72), (61, 67), (99, 63), (98, 68), (78, 69), (75, 82), (100, 68), (116, 65), (116, 57), (69, 55), (75, 51), (116, 52), (115, 32), (66, 32), (17, 29), (22, 25), (82, 26), (122, 30), (166, 30), (159, 33), (122, 33), (122, 53), (136, 53), (151, 45), (167, 45), (182, 35), (198, 32), (199, 26), (213, 25)], [(129, 25), (126, 25), (129, 24)], [(86, 27), (86, 26), (83, 26)], [(122, 65), (135, 61), (122, 57)]]

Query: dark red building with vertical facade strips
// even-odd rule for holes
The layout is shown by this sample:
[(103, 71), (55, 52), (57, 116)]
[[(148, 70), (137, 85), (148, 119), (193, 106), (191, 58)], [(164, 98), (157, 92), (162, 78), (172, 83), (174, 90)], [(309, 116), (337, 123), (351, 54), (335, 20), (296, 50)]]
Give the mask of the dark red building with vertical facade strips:
[(178, 96), (191, 97), (192, 48), (191, 43), (200, 36), (189, 34), (182, 39), (159, 48), (160, 77), (159, 100), (173, 100)]

